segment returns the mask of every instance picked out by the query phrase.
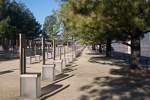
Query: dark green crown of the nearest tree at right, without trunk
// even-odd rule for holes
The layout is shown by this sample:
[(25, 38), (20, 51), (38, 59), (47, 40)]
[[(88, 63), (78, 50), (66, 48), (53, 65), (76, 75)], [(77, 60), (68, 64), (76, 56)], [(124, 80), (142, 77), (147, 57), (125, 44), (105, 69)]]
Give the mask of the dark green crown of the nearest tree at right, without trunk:
[[(110, 0), (103, 4), (103, 16), (117, 31), (129, 36), (141, 36), (149, 30), (149, 0)], [(138, 31), (139, 33), (137, 33)]]

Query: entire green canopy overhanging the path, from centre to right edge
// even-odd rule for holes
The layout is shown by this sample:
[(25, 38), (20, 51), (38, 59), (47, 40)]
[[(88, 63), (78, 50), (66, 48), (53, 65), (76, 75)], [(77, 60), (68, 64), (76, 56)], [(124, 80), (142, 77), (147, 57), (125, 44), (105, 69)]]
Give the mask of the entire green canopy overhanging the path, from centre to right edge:
[(149, 6), (149, 0), (67, 0), (57, 15), (70, 36), (90, 43), (126, 41), (149, 30)]

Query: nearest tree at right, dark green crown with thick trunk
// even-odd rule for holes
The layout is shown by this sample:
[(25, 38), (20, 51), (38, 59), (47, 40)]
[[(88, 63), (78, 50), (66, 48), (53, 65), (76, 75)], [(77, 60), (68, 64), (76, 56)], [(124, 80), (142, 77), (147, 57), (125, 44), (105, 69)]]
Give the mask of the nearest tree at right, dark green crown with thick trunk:
[(109, 0), (102, 4), (103, 16), (115, 23), (111, 26), (131, 39), (132, 69), (142, 69), (140, 37), (150, 32), (149, 5), (149, 0)]

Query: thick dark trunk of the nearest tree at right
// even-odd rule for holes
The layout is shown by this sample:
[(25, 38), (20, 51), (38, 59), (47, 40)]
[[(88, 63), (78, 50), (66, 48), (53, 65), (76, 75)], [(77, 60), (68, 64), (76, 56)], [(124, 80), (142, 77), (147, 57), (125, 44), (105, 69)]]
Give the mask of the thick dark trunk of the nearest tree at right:
[(142, 69), (140, 36), (131, 37), (131, 69)]

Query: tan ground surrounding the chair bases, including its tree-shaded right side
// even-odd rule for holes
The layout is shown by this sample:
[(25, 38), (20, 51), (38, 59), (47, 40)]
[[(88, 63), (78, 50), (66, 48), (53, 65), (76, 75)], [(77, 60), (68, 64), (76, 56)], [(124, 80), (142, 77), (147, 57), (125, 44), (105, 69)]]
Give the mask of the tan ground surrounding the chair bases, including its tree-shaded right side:
[[(27, 71), (41, 72), (41, 66), (27, 65)], [(128, 66), (84, 49), (56, 81), (41, 81), (42, 96), (35, 100), (150, 100), (150, 77), (122, 69)], [(0, 62), (0, 82), (0, 100), (30, 100), (19, 97), (19, 60)]]

